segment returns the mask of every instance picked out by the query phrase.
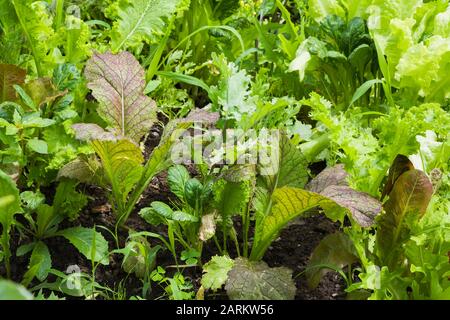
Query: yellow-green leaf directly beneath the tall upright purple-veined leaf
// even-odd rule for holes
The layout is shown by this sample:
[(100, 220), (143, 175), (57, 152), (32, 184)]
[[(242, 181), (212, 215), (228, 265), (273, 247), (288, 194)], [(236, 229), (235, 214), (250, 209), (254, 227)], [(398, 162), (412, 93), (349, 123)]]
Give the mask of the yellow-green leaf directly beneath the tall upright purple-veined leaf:
[(115, 197), (126, 199), (128, 193), (141, 178), (142, 162), (144, 161), (141, 150), (134, 143), (125, 139), (117, 142), (95, 140), (92, 142), (92, 146), (100, 157)]

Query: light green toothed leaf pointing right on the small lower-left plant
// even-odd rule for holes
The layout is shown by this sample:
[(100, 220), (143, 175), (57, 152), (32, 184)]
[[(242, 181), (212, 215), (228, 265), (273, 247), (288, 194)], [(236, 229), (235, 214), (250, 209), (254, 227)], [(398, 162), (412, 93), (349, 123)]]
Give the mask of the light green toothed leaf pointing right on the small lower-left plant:
[(95, 229), (73, 227), (58, 231), (57, 235), (69, 240), (87, 259), (94, 257), (95, 262), (109, 264), (108, 242)]

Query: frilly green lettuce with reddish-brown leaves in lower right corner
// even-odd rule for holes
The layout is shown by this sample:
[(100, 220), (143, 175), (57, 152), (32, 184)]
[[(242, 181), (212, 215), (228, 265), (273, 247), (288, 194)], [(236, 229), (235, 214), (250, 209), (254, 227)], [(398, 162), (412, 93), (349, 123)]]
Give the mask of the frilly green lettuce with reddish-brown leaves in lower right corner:
[[(325, 273), (336, 270), (355, 297), (448, 298), (448, 246), (442, 242), (448, 222), (437, 220), (448, 210), (448, 201), (439, 203), (436, 192), (424, 172), (397, 156), (383, 192), (388, 196), (384, 212), (373, 225), (375, 235), (353, 225), (324, 238), (307, 268), (309, 285), (317, 286)], [(354, 263), (361, 265), (357, 282), (341, 271)]]

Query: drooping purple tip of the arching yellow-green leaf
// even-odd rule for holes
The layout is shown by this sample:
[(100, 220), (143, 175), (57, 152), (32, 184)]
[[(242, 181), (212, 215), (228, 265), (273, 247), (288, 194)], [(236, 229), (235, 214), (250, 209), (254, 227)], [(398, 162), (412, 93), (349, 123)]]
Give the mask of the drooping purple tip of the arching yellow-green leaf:
[(329, 186), (320, 194), (347, 208), (362, 227), (373, 225), (375, 217), (381, 212), (380, 201), (347, 186)]

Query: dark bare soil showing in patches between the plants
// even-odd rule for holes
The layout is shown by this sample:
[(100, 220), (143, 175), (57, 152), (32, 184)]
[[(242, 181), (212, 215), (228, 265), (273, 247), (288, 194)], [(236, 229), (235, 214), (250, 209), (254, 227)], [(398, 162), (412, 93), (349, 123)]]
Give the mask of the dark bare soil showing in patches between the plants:
[[(160, 119), (161, 122), (165, 122), (165, 119)], [(161, 126), (155, 126), (145, 143), (146, 158), (149, 156), (150, 151), (158, 144), (161, 135)], [(314, 168), (311, 168), (313, 172), (320, 172), (323, 164), (318, 164)], [(193, 171), (193, 170), (191, 170)], [(127, 220), (127, 227), (135, 231), (148, 230), (157, 232), (167, 237), (166, 228), (155, 228), (148, 225), (143, 221), (137, 212), (143, 207), (148, 206), (152, 201), (165, 201), (169, 202), (174, 200), (174, 196), (169, 191), (166, 182), (167, 173), (161, 173), (156, 176), (151, 182), (149, 188), (144, 192), (142, 199), (137, 204), (135, 212), (133, 212)], [(52, 190), (47, 190), (50, 195)], [(97, 231), (101, 232), (105, 239), (109, 242), (109, 248), (115, 248), (116, 243), (109, 230), (114, 230), (115, 218), (111, 212), (111, 208), (107, 202), (107, 196), (101, 188), (84, 185), (81, 187), (81, 191), (90, 197), (88, 206), (80, 213), (79, 218), (74, 222), (65, 221), (61, 223), (60, 229), (81, 225), (84, 227), (97, 226)], [(47, 193), (47, 192), (45, 192)], [(236, 229), (240, 229), (240, 221), (236, 220)], [(293, 270), (293, 276), (297, 285), (296, 299), (314, 300), (314, 299), (342, 299), (344, 298), (344, 283), (342, 279), (335, 272), (330, 272), (324, 277), (321, 284), (316, 289), (309, 289), (305, 277), (299, 275), (305, 270), (309, 257), (320, 242), (320, 240), (326, 235), (333, 233), (337, 230), (337, 226), (327, 220), (323, 215), (314, 215), (313, 217), (298, 219), (291, 223), (285, 230), (282, 231), (279, 239), (277, 239), (267, 251), (264, 261), (266, 261), (271, 267), (285, 266)], [(126, 242), (128, 232), (121, 230), (119, 232), (119, 244), (123, 246)], [(27, 270), (29, 263), (29, 254), (24, 257), (16, 257), (15, 252), (20, 245), (29, 243), (31, 239), (26, 237), (19, 237), (17, 233), (14, 233), (11, 238), (11, 250), (13, 257), (11, 260), (12, 266), (12, 278), (13, 280), (20, 282), (23, 274)], [(52, 256), (52, 267), (54, 269), (65, 271), (69, 266), (77, 265), (81, 271), (91, 274), (91, 263), (84, 258), (78, 251), (64, 238), (55, 237), (46, 239), (45, 243), (50, 249)], [(152, 244), (155, 244), (155, 240), (151, 240)], [(213, 244), (204, 247), (203, 262), (209, 260), (211, 256), (217, 254), (217, 250)], [(230, 252), (233, 255), (233, 252)], [(99, 266), (97, 268), (95, 277), (96, 281), (104, 286), (107, 286), (113, 290), (118, 290), (119, 286), (126, 289), (126, 296), (141, 295), (142, 282), (134, 277), (134, 275), (128, 275), (121, 268), (122, 256), (114, 254), (110, 257), (110, 264), (108, 266)], [(157, 257), (157, 265), (163, 267), (174, 265), (175, 261), (171, 254), (166, 251), (160, 251)], [(171, 271), (175, 272), (175, 268), (167, 268), (167, 272), (170, 275)], [(183, 274), (186, 278), (190, 279), (195, 289), (200, 287), (200, 278), (202, 275), (201, 268), (187, 268)], [(5, 275), (3, 265), (0, 266), (0, 275)], [(47, 279), (49, 282), (54, 281), (53, 276), (49, 276)], [(35, 282), (33, 284), (38, 284)], [(161, 288), (154, 288), (151, 298), (159, 297), (163, 293)], [(219, 292), (214, 295), (206, 295), (206, 299), (226, 299), (224, 292)]]

